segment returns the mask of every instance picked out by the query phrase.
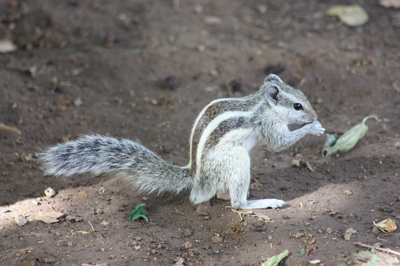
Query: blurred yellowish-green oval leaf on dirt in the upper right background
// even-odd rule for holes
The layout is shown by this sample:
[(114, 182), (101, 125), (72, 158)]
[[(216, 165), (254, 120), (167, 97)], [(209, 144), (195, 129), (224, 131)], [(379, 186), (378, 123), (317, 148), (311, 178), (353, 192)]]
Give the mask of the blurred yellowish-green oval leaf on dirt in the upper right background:
[(361, 26), (369, 19), (368, 13), (360, 5), (331, 6), (325, 13), (338, 17), (347, 26)]

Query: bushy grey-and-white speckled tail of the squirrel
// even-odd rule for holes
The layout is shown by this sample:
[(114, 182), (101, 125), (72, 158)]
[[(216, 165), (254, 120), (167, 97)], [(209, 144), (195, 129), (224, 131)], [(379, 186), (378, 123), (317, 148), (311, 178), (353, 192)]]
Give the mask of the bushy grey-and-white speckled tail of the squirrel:
[(140, 192), (179, 193), (191, 186), (188, 169), (173, 165), (139, 143), (84, 135), (38, 154), (46, 175), (122, 175)]

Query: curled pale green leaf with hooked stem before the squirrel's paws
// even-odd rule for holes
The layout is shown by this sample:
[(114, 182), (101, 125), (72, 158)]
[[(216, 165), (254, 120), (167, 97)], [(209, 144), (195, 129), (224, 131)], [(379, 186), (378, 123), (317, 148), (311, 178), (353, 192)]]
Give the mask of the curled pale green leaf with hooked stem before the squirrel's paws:
[(334, 134), (326, 134), (326, 141), (324, 150), (322, 151), (322, 156), (326, 157), (334, 153), (344, 153), (346, 151), (350, 151), (357, 144), (357, 142), (364, 137), (365, 133), (367, 133), (368, 125), (365, 124), (365, 121), (370, 118), (378, 120), (376, 115), (368, 115), (362, 120), (361, 123), (355, 125), (340, 137)]

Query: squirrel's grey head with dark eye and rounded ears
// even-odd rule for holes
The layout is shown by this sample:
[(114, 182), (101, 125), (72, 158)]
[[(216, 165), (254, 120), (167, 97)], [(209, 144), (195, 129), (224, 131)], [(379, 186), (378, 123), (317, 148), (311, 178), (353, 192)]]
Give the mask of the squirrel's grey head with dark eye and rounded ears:
[(317, 121), (318, 116), (306, 96), (284, 83), (277, 75), (271, 74), (266, 77), (261, 91), (271, 110), (287, 124)]

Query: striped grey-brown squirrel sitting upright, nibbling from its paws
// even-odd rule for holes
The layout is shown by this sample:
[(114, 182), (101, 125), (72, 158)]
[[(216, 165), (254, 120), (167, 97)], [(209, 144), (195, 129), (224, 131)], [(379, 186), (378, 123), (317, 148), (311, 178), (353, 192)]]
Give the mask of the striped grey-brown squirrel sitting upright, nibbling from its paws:
[[(290, 131), (291, 125), (300, 127)], [(190, 189), (190, 202), (230, 193), (238, 209), (278, 208), (278, 199), (247, 200), (249, 151), (257, 142), (278, 152), (325, 129), (306, 96), (277, 75), (266, 77), (260, 90), (241, 98), (216, 99), (198, 115), (191, 130), (188, 165), (165, 161), (143, 145), (102, 135), (83, 135), (38, 154), (45, 175), (82, 173), (122, 175), (138, 192), (179, 193)]]

